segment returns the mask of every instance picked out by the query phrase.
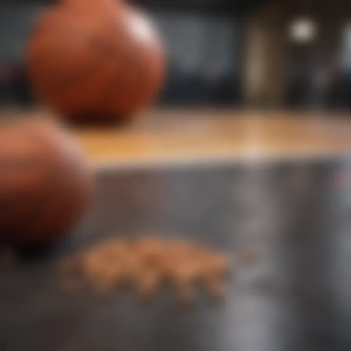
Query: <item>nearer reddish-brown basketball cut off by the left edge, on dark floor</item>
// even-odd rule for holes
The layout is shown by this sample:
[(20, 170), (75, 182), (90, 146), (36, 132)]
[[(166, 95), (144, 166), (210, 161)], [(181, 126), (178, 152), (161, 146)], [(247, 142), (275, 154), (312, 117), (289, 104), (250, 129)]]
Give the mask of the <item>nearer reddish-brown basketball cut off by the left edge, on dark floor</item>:
[(89, 166), (74, 140), (44, 120), (0, 126), (0, 239), (46, 245), (69, 232), (91, 197)]

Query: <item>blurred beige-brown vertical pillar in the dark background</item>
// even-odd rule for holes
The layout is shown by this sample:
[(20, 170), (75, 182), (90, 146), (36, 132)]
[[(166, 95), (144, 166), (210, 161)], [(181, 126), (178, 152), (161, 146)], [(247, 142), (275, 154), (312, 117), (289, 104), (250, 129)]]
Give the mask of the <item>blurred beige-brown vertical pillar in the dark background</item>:
[(255, 11), (247, 21), (244, 99), (251, 106), (278, 107), (286, 93), (288, 35), (279, 2)]

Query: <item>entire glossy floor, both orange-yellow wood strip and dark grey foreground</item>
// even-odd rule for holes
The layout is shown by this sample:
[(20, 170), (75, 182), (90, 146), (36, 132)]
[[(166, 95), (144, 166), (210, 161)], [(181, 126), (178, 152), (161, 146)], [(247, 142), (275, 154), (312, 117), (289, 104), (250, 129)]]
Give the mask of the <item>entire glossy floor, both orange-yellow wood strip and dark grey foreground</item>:
[[(75, 235), (1, 276), (0, 350), (351, 350), (351, 127), (303, 117), (158, 112), (75, 130), (94, 204)], [(199, 293), (187, 310), (167, 289), (148, 306), (59, 290), (57, 259), (150, 233), (256, 259), (235, 265), (222, 303)]]

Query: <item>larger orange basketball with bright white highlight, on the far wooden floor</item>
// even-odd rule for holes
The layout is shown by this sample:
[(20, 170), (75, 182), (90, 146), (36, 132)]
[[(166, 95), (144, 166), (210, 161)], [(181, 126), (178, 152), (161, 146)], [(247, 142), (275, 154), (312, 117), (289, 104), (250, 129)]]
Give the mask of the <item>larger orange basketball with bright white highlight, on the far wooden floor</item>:
[(44, 13), (27, 57), (39, 98), (79, 123), (131, 118), (156, 98), (164, 72), (151, 22), (114, 0), (66, 0)]

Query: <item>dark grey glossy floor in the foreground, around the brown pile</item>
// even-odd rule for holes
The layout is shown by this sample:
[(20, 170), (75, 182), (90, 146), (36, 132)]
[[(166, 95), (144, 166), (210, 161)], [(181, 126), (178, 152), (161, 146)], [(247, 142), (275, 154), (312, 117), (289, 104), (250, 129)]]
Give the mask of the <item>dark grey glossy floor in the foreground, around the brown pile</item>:
[[(351, 350), (351, 168), (280, 162), (99, 175), (77, 234), (0, 278), (0, 351)], [(189, 310), (170, 292), (64, 297), (55, 259), (108, 234), (140, 232), (254, 250), (228, 279), (224, 303)]]

